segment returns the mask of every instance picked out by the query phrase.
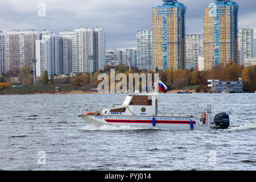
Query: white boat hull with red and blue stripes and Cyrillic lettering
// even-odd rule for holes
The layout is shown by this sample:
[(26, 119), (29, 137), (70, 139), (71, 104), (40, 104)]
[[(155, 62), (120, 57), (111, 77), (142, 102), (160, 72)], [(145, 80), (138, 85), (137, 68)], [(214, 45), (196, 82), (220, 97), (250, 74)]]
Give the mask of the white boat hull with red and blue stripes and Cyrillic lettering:
[[(166, 116), (124, 116), (124, 115), (79, 115), (89, 125), (131, 126), (144, 129), (174, 129), (174, 130), (209, 130), (213, 126), (203, 125), (194, 117)], [(153, 122), (155, 118), (155, 123)], [(191, 123), (192, 121), (192, 123)], [(153, 126), (155, 124), (155, 126)]]

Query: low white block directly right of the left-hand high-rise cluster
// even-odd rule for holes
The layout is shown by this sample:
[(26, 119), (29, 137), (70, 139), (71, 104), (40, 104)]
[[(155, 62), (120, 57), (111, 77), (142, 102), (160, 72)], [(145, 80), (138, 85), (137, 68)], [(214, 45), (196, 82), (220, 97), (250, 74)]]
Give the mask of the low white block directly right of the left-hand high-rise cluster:
[(122, 51), (118, 49), (106, 50), (106, 64), (116, 66), (121, 64)]

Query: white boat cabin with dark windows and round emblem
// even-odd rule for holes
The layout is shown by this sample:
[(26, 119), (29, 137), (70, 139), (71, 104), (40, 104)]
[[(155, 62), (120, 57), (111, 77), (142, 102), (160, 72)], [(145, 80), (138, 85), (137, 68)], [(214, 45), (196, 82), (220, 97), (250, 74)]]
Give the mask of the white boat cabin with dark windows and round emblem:
[(154, 116), (158, 113), (158, 102), (155, 93), (129, 94), (120, 106), (110, 106), (104, 109), (104, 115), (136, 115)]

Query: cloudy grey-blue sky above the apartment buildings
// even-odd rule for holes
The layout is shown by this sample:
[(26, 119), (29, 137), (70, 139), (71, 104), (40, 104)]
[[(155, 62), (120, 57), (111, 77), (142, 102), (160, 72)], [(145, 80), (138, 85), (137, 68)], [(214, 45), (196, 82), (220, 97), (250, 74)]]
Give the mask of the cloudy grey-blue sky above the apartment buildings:
[[(151, 29), (152, 7), (161, 0), (0, 0), (0, 30), (50, 30), (102, 27), (106, 48), (136, 47), (136, 30)], [(180, 0), (187, 6), (186, 34), (203, 34), (203, 8), (213, 0)], [(256, 1), (236, 0), (238, 27), (256, 27)], [(42, 14), (46, 6), (46, 16)], [(39, 12), (39, 13), (38, 13)], [(39, 15), (38, 15), (39, 14)]]

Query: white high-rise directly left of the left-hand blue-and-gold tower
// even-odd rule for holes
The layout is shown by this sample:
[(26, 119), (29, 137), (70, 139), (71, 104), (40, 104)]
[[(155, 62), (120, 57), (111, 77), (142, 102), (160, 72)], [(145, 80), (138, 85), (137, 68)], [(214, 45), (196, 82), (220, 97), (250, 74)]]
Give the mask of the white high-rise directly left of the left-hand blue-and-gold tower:
[(137, 30), (137, 68), (153, 69), (152, 30)]

